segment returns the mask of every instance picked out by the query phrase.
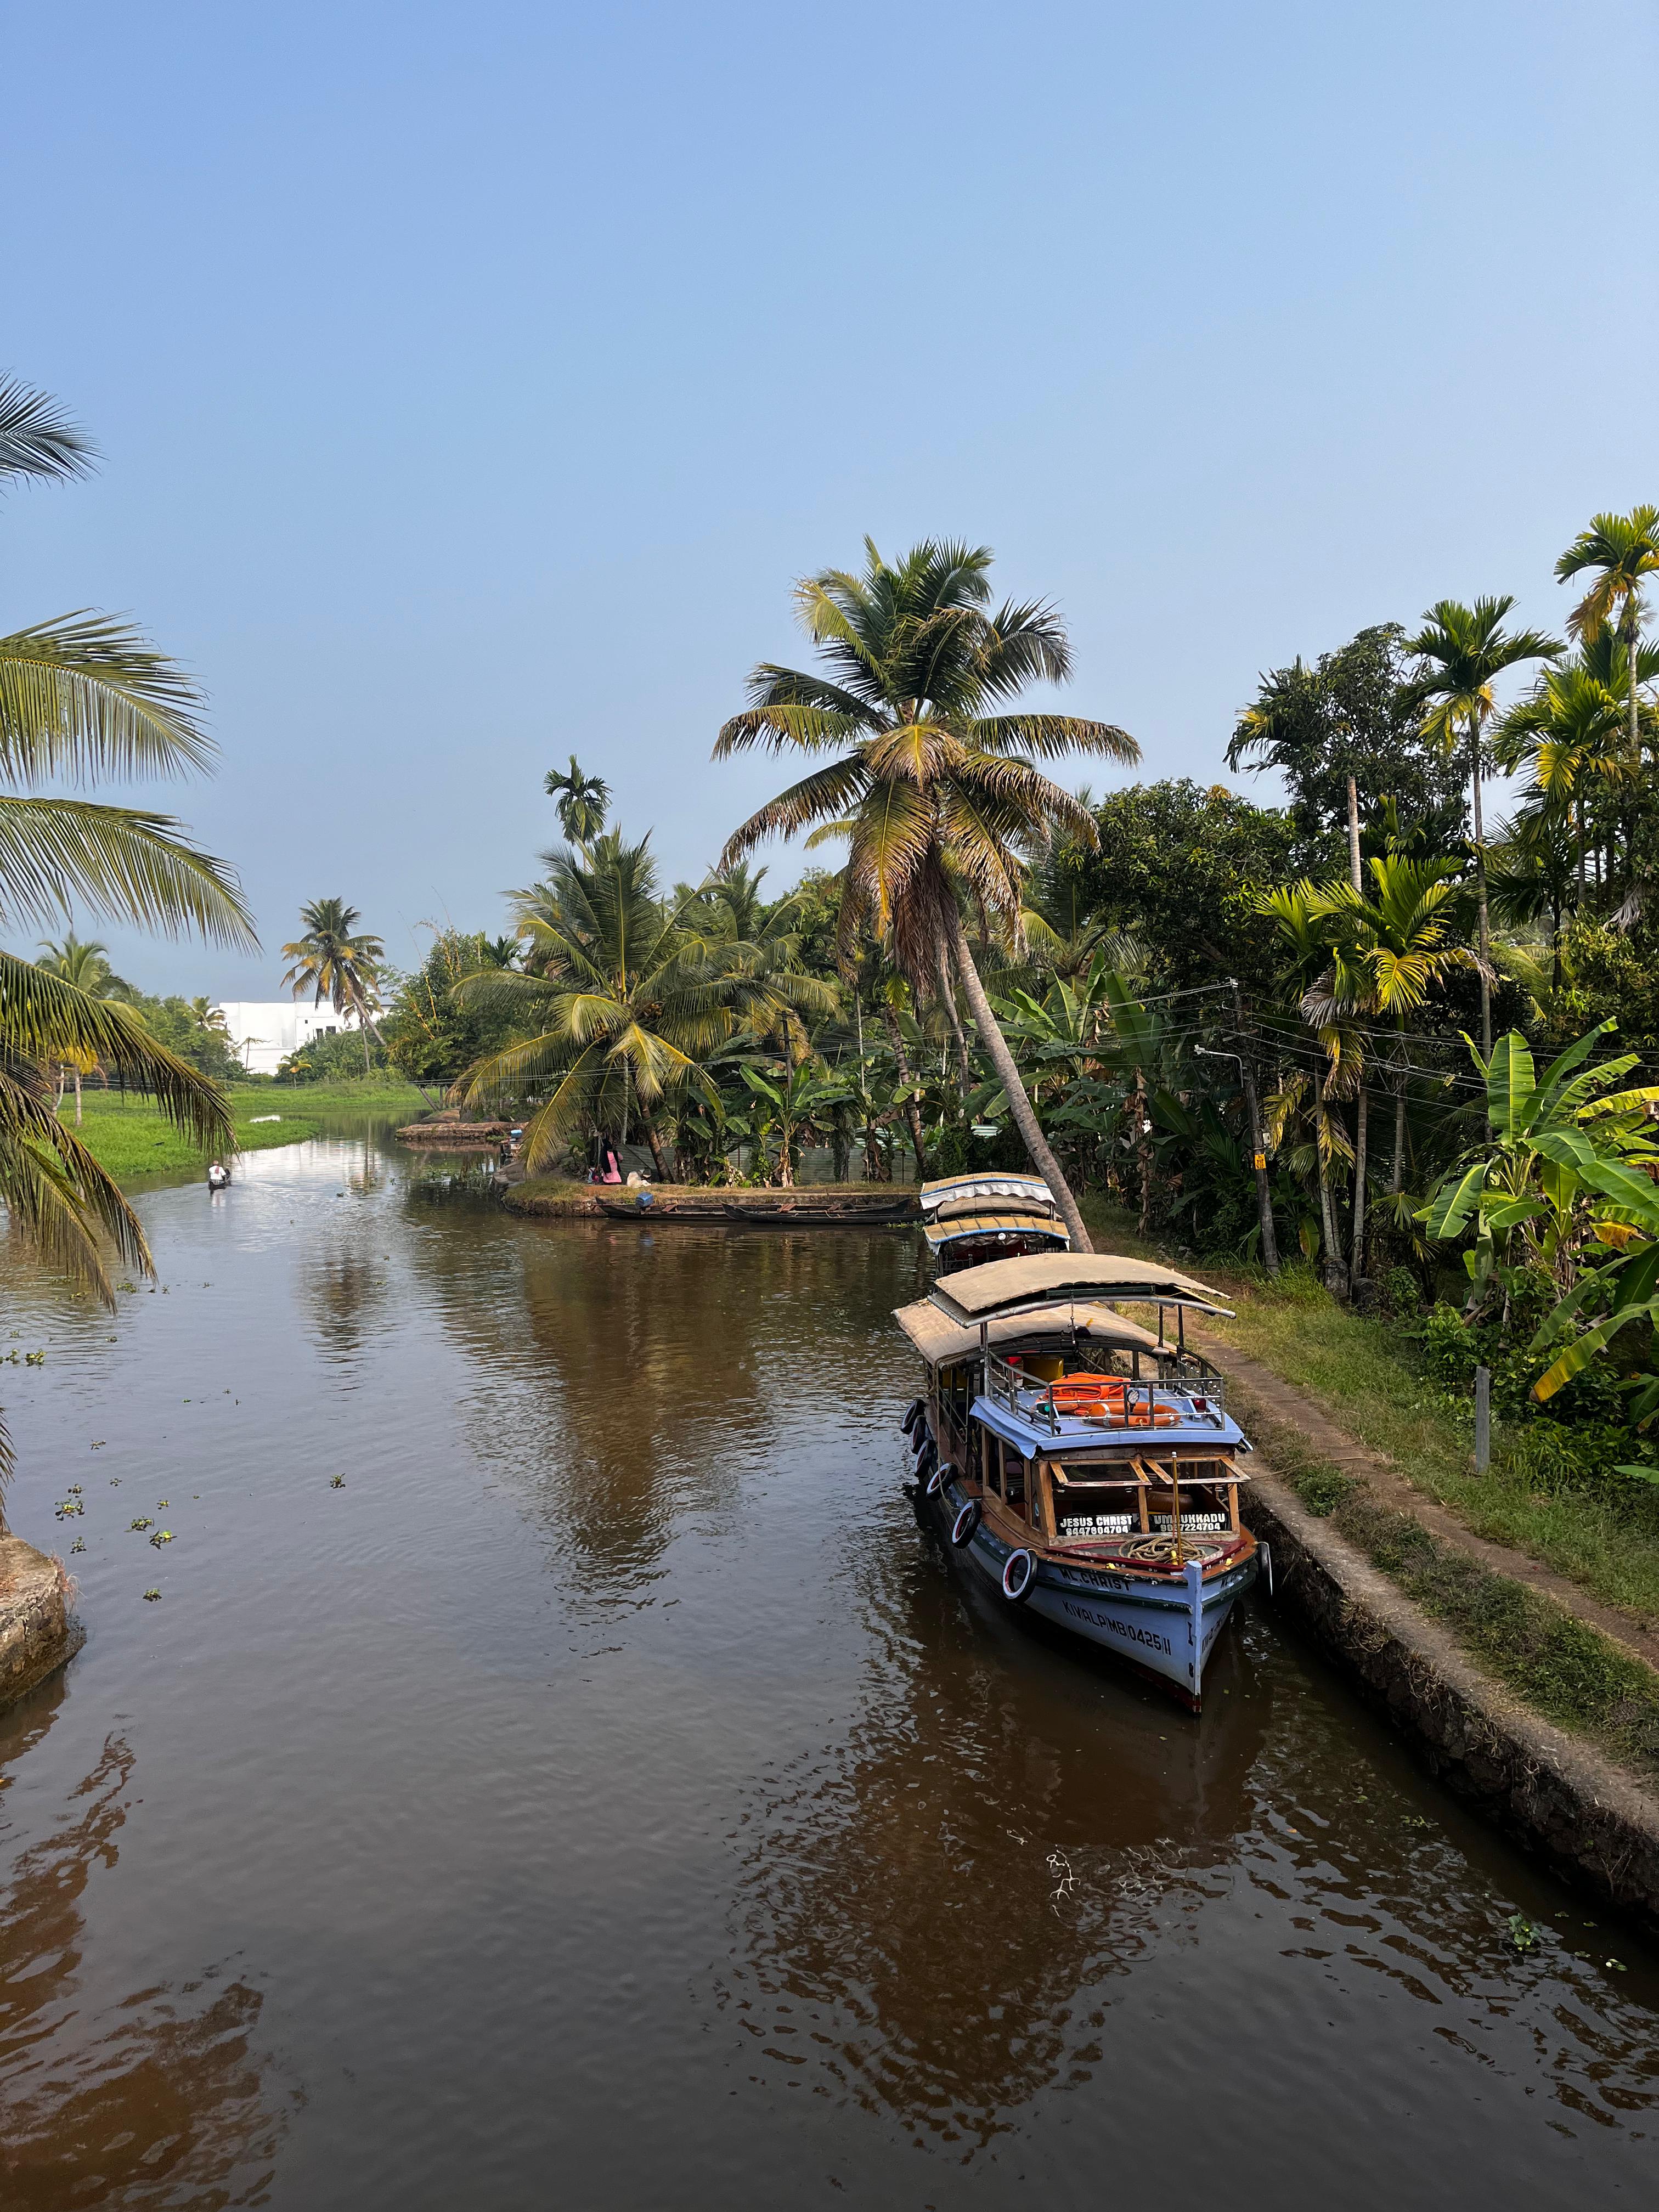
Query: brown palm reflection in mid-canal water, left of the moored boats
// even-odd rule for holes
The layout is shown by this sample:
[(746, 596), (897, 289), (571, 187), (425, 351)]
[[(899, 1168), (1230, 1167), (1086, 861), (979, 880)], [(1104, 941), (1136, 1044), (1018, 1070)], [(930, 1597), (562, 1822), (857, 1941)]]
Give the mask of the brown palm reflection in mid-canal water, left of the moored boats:
[[(484, 1294), (456, 1239), (422, 1239), (416, 1265), (489, 1369), (480, 1458), (599, 1604), (648, 1597), (688, 1515), (734, 1513), (801, 1431), (841, 1425), (872, 1305), (916, 1270), (907, 1241), (878, 1234), (803, 1252), (765, 1232), (562, 1223), (504, 1250)], [(896, 1363), (883, 1340), (880, 1367)]]

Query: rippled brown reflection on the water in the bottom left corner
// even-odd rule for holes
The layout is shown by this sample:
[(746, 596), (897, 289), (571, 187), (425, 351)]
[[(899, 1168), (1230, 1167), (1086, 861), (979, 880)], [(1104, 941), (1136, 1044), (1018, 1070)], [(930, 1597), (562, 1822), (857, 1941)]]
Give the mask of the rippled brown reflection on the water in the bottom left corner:
[[(7, 1767), (40, 1743), (62, 1699), (60, 1677), (11, 1719)], [(0, 2174), (20, 2212), (250, 2203), (281, 2143), (254, 2053), (261, 1991), (208, 1969), (86, 2006), (86, 1889), (115, 1867), (133, 1765), (126, 1739), (108, 1736), (62, 1820), (11, 1858), (0, 1889)]]

